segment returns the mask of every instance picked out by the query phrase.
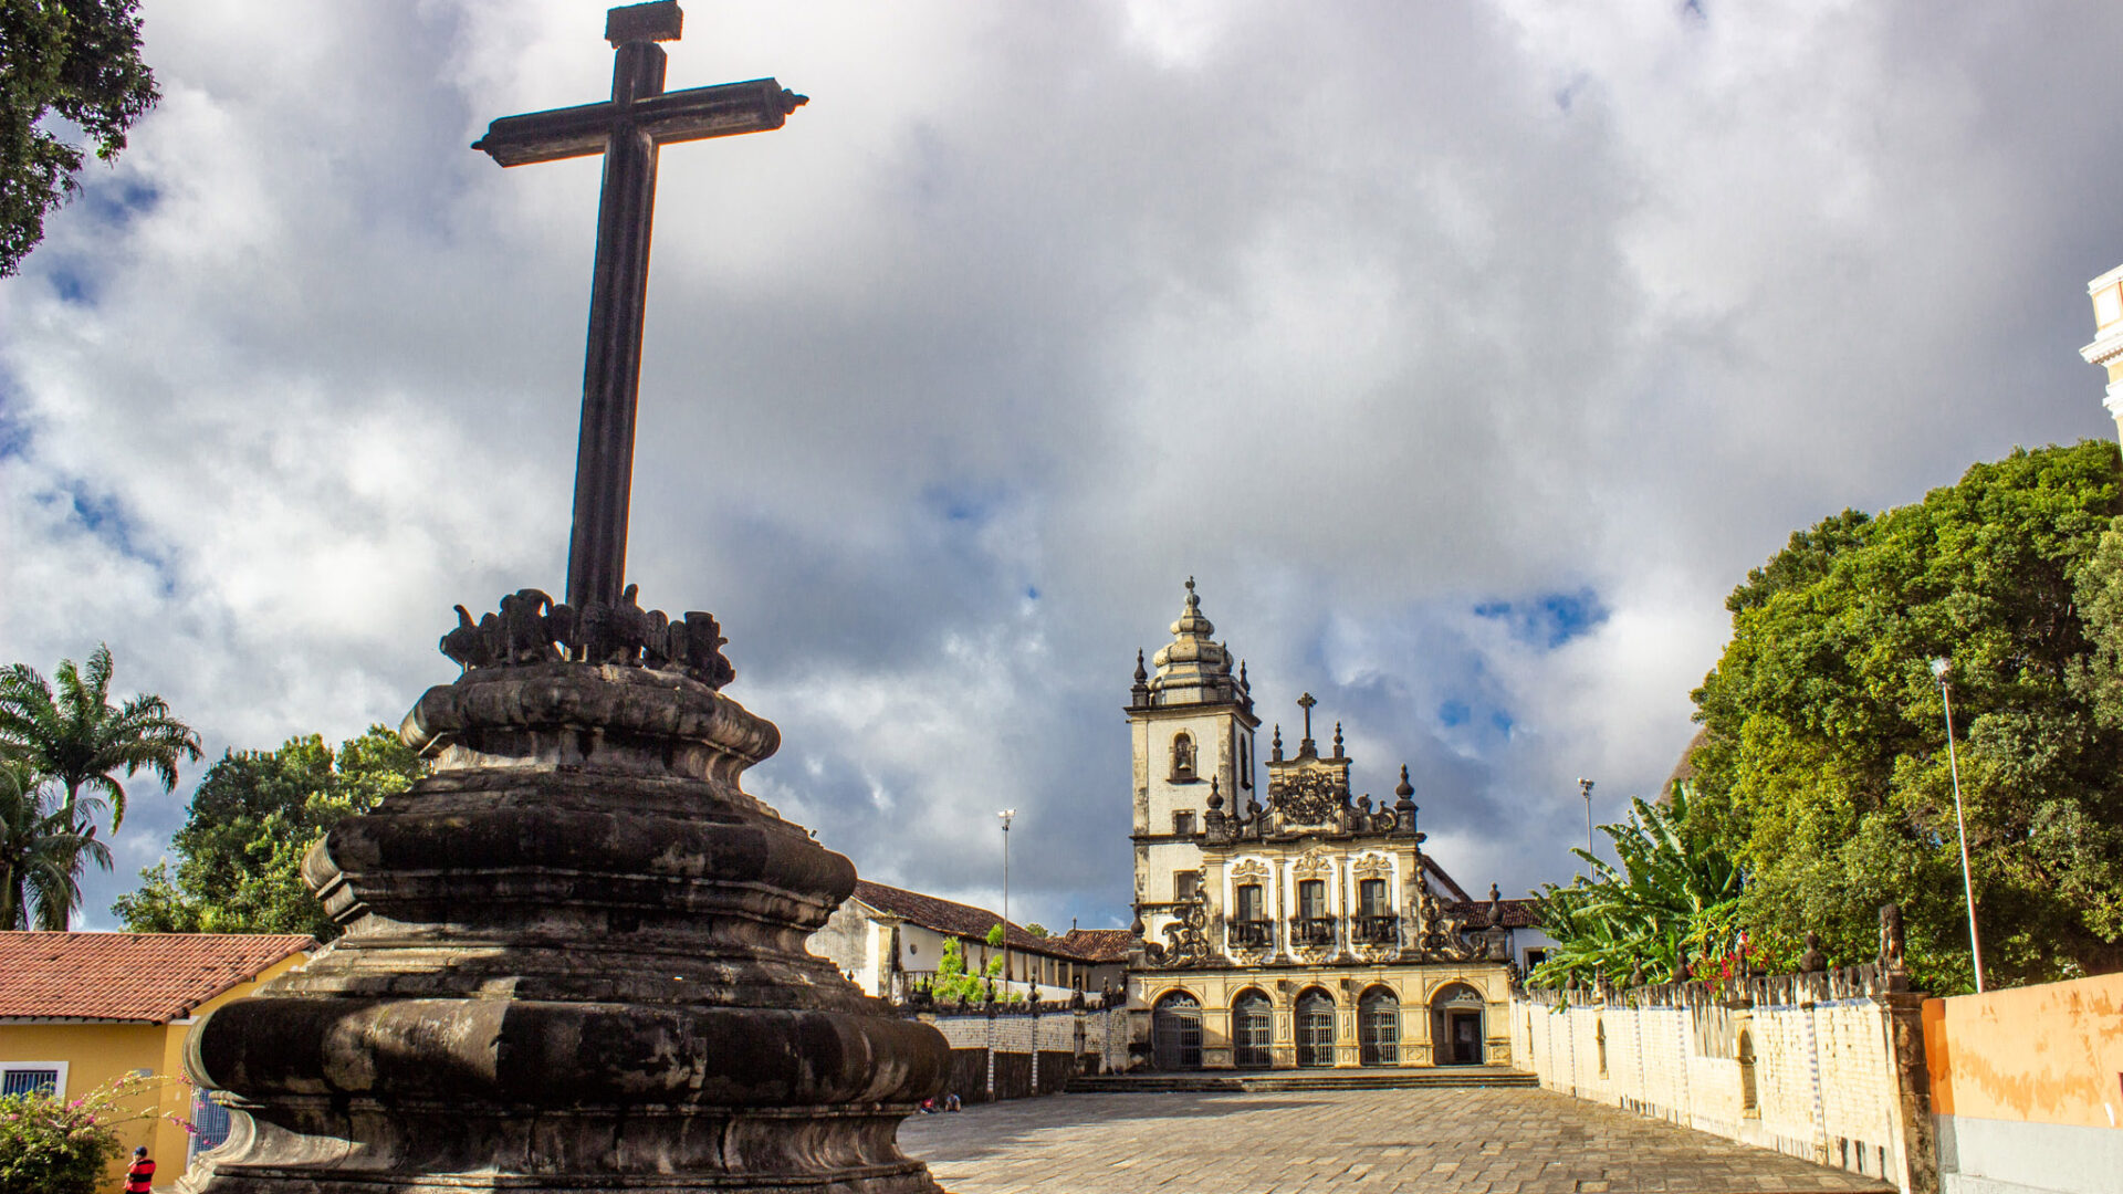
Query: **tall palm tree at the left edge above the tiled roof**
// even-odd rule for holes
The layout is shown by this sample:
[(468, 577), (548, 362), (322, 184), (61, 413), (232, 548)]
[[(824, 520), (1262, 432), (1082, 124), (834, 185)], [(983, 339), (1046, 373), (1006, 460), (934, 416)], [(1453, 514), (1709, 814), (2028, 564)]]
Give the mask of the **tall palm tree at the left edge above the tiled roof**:
[(93, 841), (93, 814), (110, 809), (110, 833), (125, 820), (125, 786), (113, 771), (123, 767), (127, 778), (149, 771), (168, 792), (176, 788), (178, 758), (200, 756), (200, 735), (172, 718), (161, 697), (140, 693), (110, 707), (108, 646), (98, 646), (85, 669), (62, 659), (53, 680), (57, 688), (25, 663), (0, 671), (0, 754), (59, 786), (59, 814), (83, 843), (66, 863), (66, 890), (74, 901), (40, 901), (40, 928), (66, 928), (72, 920), (81, 890), (74, 875), (83, 863), (110, 865), (108, 850)]

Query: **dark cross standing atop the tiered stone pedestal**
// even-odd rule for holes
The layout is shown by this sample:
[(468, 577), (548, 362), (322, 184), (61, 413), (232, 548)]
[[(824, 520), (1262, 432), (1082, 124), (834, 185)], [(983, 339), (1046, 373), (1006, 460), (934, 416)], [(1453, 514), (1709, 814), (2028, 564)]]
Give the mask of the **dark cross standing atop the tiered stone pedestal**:
[(677, 40), (681, 21), (675, 0), (611, 8), (605, 15), (605, 40), (618, 51), (611, 100), (501, 117), (471, 144), (501, 166), (605, 155), (575, 446), (575, 529), (567, 552), (567, 603), (575, 610), (616, 605), (626, 576), (656, 151), (673, 140), (777, 130), (807, 102), (773, 79), (664, 91), (664, 51), (656, 42)]

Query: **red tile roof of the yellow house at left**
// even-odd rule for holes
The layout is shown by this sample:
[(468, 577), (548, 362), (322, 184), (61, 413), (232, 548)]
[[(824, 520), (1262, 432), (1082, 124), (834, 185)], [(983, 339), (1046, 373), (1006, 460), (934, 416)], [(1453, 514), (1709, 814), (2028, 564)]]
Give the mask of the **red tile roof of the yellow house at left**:
[(0, 1018), (168, 1024), (314, 948), (295, 935), (0, 933)]

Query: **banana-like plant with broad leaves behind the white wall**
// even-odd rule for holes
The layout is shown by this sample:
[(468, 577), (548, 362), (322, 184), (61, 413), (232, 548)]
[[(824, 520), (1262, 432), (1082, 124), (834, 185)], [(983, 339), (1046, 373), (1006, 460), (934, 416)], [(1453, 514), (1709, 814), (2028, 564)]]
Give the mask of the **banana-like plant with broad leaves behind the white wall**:
[(1667, 807), (1630, 805), (1626, 822), (1599, 826), (1620, 869), (1573, 848), (1592, 873), (1535, 897), (1556, 948), (1526, 975), (1533, 986), (1677, 982), (1690, 960), (1739, 950), (1741, 873), (1724, 850), (1688, 837), (1690, 784), (1673, 784)]

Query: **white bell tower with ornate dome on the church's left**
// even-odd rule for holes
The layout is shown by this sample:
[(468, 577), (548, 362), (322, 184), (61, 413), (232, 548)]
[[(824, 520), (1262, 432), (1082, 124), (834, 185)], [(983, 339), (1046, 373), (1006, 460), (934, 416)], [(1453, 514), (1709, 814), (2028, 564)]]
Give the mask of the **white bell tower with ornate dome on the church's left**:
[(1202, 831), (1210, 797), (1216, 807), (1244, 807), (1253, 795), (1253, 693), (1246, 667), (1233, 676), (1231, 650), (1210, 635), (1202, 597), (1187, 578), (1187, 608), (1172, 622), (1172, 642), (1151, 665), (1136, 652), (1136, 686), (1127, 722), (1136, 744), (1136, 935), (1163, 941), (1172, 905), (1195, 897), (1202, 873)]

